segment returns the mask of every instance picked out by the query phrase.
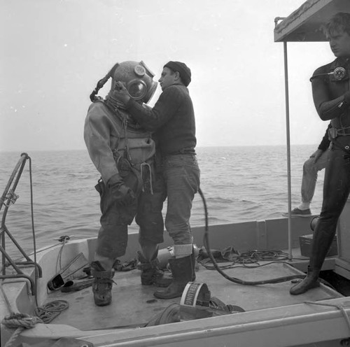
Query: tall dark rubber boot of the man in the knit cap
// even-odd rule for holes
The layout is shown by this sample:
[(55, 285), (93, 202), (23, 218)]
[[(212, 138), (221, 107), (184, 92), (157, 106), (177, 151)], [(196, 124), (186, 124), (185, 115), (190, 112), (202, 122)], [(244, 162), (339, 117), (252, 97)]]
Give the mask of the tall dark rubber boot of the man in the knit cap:
[(181, 297), (186, 284), (195, 280), (195, 262), (193, 254), (182, 258), (171, 258), (169, 259), (169, 265), (172, 270), (173, 280), (165, 290), (158, 290), (153, 294), (158, 299)]

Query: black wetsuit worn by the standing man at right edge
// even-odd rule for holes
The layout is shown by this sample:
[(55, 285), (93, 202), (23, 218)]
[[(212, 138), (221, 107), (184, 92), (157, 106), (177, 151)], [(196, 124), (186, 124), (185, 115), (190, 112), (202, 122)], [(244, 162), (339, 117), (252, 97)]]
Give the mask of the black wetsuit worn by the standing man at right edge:
[[(342, 66), (346, 73), (337, 80), (326, 75)], [(350, 192), (350, 90), (349, 59), (337, 58), (334, 62), (316, 69), (312, 78), (312, 93), (316, 111), (322, 120), (331, 120), (331, 141), (328, 164), (325, 167), (323, 205), (314, 231), (313, 249), (309, 267), (321, 269), (332, 239), (337, 220)]]

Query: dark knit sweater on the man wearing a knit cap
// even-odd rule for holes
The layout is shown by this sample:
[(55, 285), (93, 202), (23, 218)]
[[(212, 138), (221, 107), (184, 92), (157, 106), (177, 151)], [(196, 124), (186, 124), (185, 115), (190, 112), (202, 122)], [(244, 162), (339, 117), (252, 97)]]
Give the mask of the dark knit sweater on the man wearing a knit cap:
[(195, 113), (184, 85), (167, 87), (153, 108), (130, 99), (127, 111), (139, 124), (153, 132), (162, 155), (195, 152)]

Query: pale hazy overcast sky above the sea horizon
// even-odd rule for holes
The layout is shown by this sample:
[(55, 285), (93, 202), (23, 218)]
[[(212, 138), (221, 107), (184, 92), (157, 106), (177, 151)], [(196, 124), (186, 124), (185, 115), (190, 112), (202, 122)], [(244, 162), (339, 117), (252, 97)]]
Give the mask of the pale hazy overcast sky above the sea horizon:
[[(89, 95), (125, 60), (143, 60), (156, 80), (169, 60), (188, 64), (198, 146), (285, 144), (283, 44), (274, 43), (274, 18), (302, 3), (3, 0), (0, 150), (85, 149)], [(290, 140), (318, 145), (328, 123), (314, 110), (309, 77), (334, 57), (328, 43), (288, 43), (288, 53)]]

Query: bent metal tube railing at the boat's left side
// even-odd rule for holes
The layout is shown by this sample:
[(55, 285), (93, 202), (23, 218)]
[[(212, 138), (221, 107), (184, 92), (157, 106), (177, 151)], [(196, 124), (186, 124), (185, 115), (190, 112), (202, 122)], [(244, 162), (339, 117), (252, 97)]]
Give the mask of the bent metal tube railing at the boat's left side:
[[(13, 206), (15, 202), (18, 199), (18, 195), (15, 194), (16, 187), (18, 186), (18, 183), (20, 181), (20, 177), (22, 176), (23, 169), (25, 168), (25, 164), (29, 160), (30, 163), (30, 157), (27, 155), (27, 153), (22, 153), (20, 156), (20, 160), (18, 160), (18, 163), (15, 165), (15, 169), (13, 169), (12, 174), (10, 175), (10, 178), (8, 180), (8, 183), (6, 185), (5, 190), (3, 191), (3, 194), (0, 197), (0, 211), (3, 208), (3, 214), (1, 218), (1, 227), (0, 227), (0, 252), (1, 252), (1, 274), (0, 278), (2, 280), (6, 278), (25, 278), (27, 281), (29, 281), (31, 285), (31, 295), (36, 295), (36, 281), (34, 281), (34, 278), (31, 276), (28, 276), (25, 274), (18, 265), (33, 265), (35, 267), (35, 278), (42, 276), (42, 270), (41, 267), (36, 263), (36, 261), (33, 261), (30, 259), (30, 257), (25, 253), (25, 250), (20, 246), (18, 241), (16, 241), (15, 237), (10, 233), (8, 228), (6, 227), (6, 216), (8, 213), (8, 208), (10, 206)], [(31, 170), (29, 170), (31, 171)], [(33, 218), (33, 213), (31, 213)], [(10, 241), (13, 242), (13, 244), (18, 248), (20, 253), (22, 253), (25, 260), (18, 261), (13, 260), (10, 255), (6, 252), (6, 236), (10, 239)], [(12, 266), (15, 270), (15, 274), (6, 274), (6, 267)]]

